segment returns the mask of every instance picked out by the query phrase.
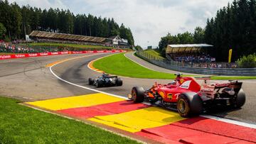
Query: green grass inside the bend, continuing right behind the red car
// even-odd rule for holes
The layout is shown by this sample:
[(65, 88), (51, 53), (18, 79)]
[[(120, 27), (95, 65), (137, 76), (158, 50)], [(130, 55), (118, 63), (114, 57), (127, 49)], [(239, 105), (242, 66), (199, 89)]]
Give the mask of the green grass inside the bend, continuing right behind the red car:
[[(103, 57), (93, 63), (93, 66), (99, 70), (110, 74), (117, 74), (124, 77), (146, 78), (146, 79), (174, 79), (174, 74), (156, 72), (138, 65), (127, 57), (124, 53)], [(184, 75), (185, 76), (185, 75)], [(195, 76), (193, 76), (195, 77)], [(221, 77), (213, 76), (211, 79), (256, 79), (256, 77)]]

